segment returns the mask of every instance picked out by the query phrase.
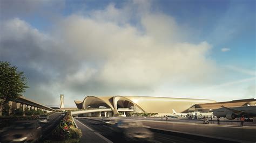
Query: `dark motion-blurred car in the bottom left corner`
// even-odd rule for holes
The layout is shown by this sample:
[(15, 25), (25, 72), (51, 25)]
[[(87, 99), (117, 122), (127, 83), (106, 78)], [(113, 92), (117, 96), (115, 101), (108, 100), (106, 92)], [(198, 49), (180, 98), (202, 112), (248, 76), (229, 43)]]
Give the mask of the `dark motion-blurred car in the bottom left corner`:
[(36, 120), (15, 121), (0, 134), (1, 142), (32, 142), (42, 136), (42, 127)]

